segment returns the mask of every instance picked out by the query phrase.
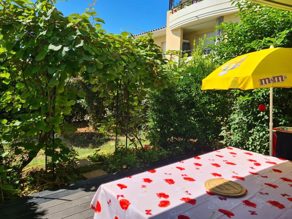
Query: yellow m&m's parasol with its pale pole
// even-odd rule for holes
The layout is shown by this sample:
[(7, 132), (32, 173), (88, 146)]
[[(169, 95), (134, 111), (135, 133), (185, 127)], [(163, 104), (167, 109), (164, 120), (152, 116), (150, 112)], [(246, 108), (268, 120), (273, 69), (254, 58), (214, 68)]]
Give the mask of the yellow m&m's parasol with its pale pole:
[(270, 156), (273, 154), (273, 87), (292, 87), (292, 48), (263, 49), (238, 56), (209, 74), (202, 90), (270, 88)]

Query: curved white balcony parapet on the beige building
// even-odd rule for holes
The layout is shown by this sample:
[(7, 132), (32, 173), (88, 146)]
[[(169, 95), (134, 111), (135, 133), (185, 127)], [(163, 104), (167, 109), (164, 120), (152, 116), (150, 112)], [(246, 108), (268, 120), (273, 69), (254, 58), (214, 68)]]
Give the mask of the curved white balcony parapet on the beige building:
[(179, 27), (189, 27), (238, 11), (237, 6), (231, 5), (230, 0), (190, 1), (190, 4), (183, 2), (181, 5), (183, 6), (176, 6), (180, 10), (170, 11), (170, 13), (173, 13), (169, 16), (169, 28), (171, 30)]

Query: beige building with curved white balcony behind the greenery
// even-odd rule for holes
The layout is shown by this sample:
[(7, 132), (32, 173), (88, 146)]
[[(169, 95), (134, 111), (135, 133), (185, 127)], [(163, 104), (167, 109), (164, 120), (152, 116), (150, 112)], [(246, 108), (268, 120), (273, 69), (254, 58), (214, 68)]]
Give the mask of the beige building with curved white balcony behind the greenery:
[[(135, 37), (153, 33), (154, 43), (163, 51), (187, 51), (195, 49), (194, 41), (199, 38), (220, 35), (215, 32), (215, 26), (221, 22), (239, 22), (239, 17), (234, 17), (238, 12), (230, 0), (183, 0), (174, 4), (170, 0), (169, 10), (166, 12), (166, 26), (149, 32), (135, 35)], [(210, 41), (206, 40), (206, 45)], [(208, 54), (207, 46), (204, 48)]]

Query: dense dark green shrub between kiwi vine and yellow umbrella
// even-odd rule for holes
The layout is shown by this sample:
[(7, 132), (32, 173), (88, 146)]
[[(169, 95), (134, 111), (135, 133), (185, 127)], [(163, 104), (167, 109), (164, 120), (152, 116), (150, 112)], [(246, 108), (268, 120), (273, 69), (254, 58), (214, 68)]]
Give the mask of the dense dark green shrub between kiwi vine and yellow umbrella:
[(216, 68), (205, 57), (203, 45), (201, 40), (176, 86), (149, 94), (148, 137), (152, 144), (173, 150), (177, 146), (192, 147), (194, 141), (206, 145), (218, 139), (232, 98), (228, 91), (201, 91), (202, 79)]

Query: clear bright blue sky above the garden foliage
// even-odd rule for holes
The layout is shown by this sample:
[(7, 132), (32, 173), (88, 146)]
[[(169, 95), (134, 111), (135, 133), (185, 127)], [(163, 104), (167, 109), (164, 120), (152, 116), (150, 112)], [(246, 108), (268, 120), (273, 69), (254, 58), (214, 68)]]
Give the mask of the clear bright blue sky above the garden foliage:
[[(83, 13), (92, 0), (60, 1), (56, 7), (67, 16), (72, 13)], [(169, 0), (98, 0), (94, 11), (98, 18), (105, 20), (103, 29), (118, 34), (123, 31), (139, 34), (142, 31), (122, 27), (137, 27), (145, 31), (166, 25), (166, 12)]]

